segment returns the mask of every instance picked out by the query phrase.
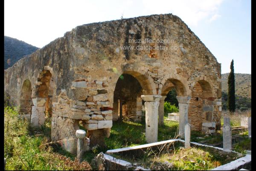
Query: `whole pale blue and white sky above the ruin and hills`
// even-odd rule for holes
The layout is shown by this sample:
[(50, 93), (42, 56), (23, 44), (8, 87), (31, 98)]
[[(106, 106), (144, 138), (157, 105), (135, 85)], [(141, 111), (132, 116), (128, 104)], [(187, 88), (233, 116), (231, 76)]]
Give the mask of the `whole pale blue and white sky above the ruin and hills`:
[(76, 26), (172, 13), (221, 63), (221, 73), (251, 73), (250, 0), (4, 0), (4, 35), (37, 47)]

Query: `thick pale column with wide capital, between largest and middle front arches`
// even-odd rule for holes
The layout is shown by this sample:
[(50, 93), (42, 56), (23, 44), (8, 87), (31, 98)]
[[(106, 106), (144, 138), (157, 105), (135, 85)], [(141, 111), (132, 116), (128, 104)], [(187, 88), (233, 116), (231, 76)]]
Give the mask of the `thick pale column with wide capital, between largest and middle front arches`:
[(159, 95), (141, 95), (145, 101), (146, 110), (146, 141), (148, 143), (157, 142), (158, 131), (158, 107), (159, 100), (162, 96)]

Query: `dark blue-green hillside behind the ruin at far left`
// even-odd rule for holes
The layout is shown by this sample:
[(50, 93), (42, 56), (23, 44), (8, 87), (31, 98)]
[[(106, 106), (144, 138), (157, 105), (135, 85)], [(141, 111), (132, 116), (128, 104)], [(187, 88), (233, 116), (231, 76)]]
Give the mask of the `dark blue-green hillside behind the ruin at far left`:
[(24, 41), (4, 36), (4, 69), (12, 67), (15, 62), (23, 56), (32, 54), (38, 47), (32, 46)]

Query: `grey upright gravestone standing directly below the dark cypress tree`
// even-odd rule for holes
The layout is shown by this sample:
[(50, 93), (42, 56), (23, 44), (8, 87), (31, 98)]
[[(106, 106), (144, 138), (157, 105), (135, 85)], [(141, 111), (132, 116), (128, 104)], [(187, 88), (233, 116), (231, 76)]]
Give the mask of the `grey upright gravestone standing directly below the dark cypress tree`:
[(224, 116), (223, 151), (232, 151), (232, 129), (230, 126), (230, 118), (228, 116)]

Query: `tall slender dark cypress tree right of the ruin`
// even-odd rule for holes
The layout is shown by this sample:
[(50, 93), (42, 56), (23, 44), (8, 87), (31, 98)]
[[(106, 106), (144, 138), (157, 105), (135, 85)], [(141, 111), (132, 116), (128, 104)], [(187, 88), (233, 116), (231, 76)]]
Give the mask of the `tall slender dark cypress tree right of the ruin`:
[(234, 112), (236, 109), (236, 97), (235, 97), (235, 73), (234, 73), (234, 61), (232, 59), (230, 64), (230, 74), (228, 75), (228, 99), (227, 107), (230, 112)]

